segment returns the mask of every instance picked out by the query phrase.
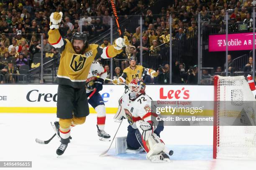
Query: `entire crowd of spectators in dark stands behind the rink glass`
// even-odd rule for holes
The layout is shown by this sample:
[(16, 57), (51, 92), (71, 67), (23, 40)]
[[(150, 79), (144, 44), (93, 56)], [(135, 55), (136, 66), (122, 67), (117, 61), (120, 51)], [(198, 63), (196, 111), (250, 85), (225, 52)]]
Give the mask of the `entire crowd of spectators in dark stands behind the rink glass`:
[[(157, 1), (156, 1), (157, 2)], [(256, 0), (116, 0), (120, 20), (132, 20), (131, 15), (141, 15), (142, 46), (140, 45), (141, 28), (138, 24), (124, 25), (124, 35), (128, 36), (131, 45), (115, 58), (114, 77), (119, 77), (129, 58), (135, 56), (140, 64), (140, 50), (143, 52), (143, 66), (159, 72), (154, 80), (148, 83), (168, 84), (170, 77), (169, 40), (173, 42), (172, 82), (197, 84), (197, 25), (198, 14), (201, 16), (202, 33), (225, 31), (225, 11), (228, 10), (228, 32), (238, 32), (238, 24), (244, 23), (246, 31), (252, 31), (252, 10)], [(154, 7), (157, 5), (157, 8)], [(110, 0), (5, 0), (0, 3), (0, 74), (15, 74), (19, 70), (33, 69), (36, 54), (41, 50), (44, 57), (57, 57), (58, 51), (48, 43), (49, 16), (54, 11), (63, 12), (60, 25), (62, 37), (71, 40), (77, 31), (87, 32), (90, 40), (100, 39), (102, 47), (110, 45), (110, 38), (103, 37), (110, 30), (112, 8)], [(169, 18), (172, 25), (169, 25)], [(137, 18), (138, 20), (138, 18)], [(138, 22), (137, 22), (138, 23)], [(170, 27), (172, 34), (170, 35)], [(41, 42), (43, 35), (43, 42)], [(203, 38), (207, 41), (207, 38)], [(41, 48), (41, 43), (44, 48)], [(225, 58), (225, 56), (223, 56)], [(236, 71), (229, 55), (228, 71)], [(100, 61), (110, 77), (110, 62)], [(212, 65), (214, 70), (203, 69), (202, 76), (209, 83), (214, 72), (225, 71), (225, 60)], [(252, 60), (248, 59), (242, 71), (251, 71)], [(207, 63), (207, 62), (205, 62)], [(25, 66), (24, 66), (25, 65)], [(3, 79), (3, 78), (2, 78)], [(1, 80), (3, 82), (3, 80)], [(9, 82), (12, 82), (10, 80)], [(211, 83), (211, 82), (210, 82)]]

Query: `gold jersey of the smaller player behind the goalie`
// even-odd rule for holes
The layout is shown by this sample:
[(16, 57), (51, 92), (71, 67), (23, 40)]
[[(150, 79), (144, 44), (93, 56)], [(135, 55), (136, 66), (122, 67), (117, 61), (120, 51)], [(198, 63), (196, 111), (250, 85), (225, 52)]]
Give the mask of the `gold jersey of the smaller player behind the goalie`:
[(136, 65), (135, 69), (132, 69), (130, 66), (123, 70), (123, 74), (118, 78), (120, 82), (126, 82), (128, 85), (133, 79), (141, 78), (143, 71), (147, 69), (147, 75), (151, 75), (155, 70), (144, 68), (142, 65)]

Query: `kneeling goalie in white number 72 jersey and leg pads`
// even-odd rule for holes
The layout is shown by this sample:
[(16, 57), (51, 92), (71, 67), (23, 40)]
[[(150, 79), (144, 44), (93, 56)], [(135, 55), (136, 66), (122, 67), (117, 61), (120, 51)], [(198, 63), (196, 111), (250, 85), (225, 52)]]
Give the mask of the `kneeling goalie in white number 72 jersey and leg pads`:
[[(128, 86), (129, 92), (123, 96), (123, 117), (129, 122), (126, 137), (126, 152), (134, 153), (140, 150), (140, 146), (146, 151), (146, 158), (152, 162), (169, 162), (169, 156), (164, 153), (165, 145), (159, 139), (162, 128), (156, 128), (151, 116), (157, 115), (151, 112), (151, 98), (146, 95), (146, 85), (143, 80), (136, 78)], [(122, 118), (116, 117), (117, 120)], [(117, 148), (118, 149), (118, 148)]]

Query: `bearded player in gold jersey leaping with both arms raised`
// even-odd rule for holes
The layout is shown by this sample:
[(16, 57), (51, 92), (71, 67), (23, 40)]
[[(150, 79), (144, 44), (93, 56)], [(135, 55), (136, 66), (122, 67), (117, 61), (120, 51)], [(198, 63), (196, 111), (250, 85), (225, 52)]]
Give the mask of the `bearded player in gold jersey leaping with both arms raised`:
[(82, 32), (74, 33), (72, 42), (63, 39), (59, 33), (62, 13), (51, 13), (49, 43), (61, 54), (58, 77), (57, 117), (59, 126), (54, 123), (56, 133), (59, 133), (61, 145), (56, 150), (62, 155), (67, 148), (70, 137), (70, 126), (80, 125), (89, 115), (89, 107), (85, 90), (86, 79), (90, 65), (97, 58), (111, 58), (122, 52), (122, 47), (129, 45), (127, 37), (118, 38), (113, 45), (100, 47), (87, 43), (87, 35)]

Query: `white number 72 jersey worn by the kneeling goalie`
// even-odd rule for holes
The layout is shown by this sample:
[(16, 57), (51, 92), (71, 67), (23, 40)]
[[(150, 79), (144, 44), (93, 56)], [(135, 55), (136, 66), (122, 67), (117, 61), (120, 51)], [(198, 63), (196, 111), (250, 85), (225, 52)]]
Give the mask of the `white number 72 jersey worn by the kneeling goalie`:
[(127, 118), (129, 124), (136, 129), (136, 122), (151, 120), (151, 116), (157, 117), (156, 113), (151, 112), (151, 97), (148, 95), (140, 95), (136, 100), (130, 100), (129, 90), (125, 90), (122, 98), (123, 116)]

